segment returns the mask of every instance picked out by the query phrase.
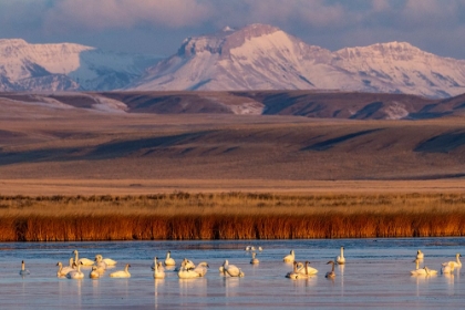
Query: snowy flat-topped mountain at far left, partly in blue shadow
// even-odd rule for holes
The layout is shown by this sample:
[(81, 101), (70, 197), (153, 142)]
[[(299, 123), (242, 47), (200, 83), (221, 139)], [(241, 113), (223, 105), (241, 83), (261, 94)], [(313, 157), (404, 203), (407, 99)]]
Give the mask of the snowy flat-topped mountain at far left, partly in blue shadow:
[(0, 40), (0, 91), (103, 91), (121, 89), (159, 58), (104, 52), (60, 43)]

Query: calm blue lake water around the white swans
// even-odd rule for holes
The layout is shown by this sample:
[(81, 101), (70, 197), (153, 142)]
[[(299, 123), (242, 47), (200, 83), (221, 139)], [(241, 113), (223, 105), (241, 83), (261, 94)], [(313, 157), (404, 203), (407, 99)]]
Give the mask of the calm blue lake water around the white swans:
[[(250, 265), (248, 245), (261, 246), (258, 266)], [(334, 280), (324, 278), (328, 260), (344, 246), (347, 265), (335, 268)], [(80, 257), (96, 254), (118, 261), (112, 269), (131, 264), (130, 279), (113, 279), (111, 271), (99, 280), (56, 278), (56, 262), (68, 265), (74, 249)], [(297, 260), (310, 260), (319, 273), (308, 280), (285, 278), (292, 265), (282, 257), (293, 249)], [(441, 262), (465, 255), (465, 238), (339, 239), (339, 240), (240, 240), (240, 241), (127, 241), (0, 244), (0, 308), (113, 308), (113, 309), (282, 309), (282, 308), (463, 308), (465, 278), (461, 269), (453, 276), (411, 277), (416, 250), (424, 264), (440, 270)], [(178, 279), (166, 271), (154, 280), (153, 257), (166, 251), (180, 264), (184, 257), (195, 264), (207, 261), (205, 278)], [(244, 278), (226, 278), (218, 272), (225, 259), (241, 268)], [(30, 275), (19, 275), (21, 260)], [(423, 264), (422, 264), (423, 266)]]

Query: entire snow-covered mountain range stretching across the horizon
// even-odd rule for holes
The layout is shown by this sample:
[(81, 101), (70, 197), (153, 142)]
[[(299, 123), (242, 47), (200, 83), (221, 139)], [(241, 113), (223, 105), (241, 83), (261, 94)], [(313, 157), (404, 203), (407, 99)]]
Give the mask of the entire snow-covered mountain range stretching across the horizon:
[(0, 39), (0, 91), (267, 91), (465, 93), (465, 60), (409, 42), (330, 51), (269, 24), (185, 39), (161, 59), (75, 43)]

